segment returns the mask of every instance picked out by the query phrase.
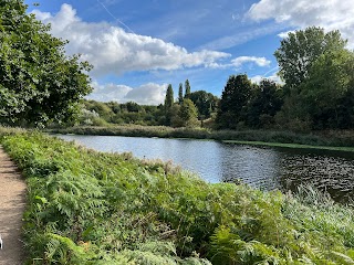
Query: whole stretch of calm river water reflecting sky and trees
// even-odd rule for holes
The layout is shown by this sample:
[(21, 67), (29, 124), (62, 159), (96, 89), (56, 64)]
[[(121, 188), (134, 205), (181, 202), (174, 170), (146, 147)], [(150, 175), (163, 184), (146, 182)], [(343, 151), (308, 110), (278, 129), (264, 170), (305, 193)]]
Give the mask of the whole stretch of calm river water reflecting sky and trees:
[(88, 148), (133, 152), (146, 159), (171, 160), (209, 182), (241, 180), (262, 190), (295, 190), (311, 183), (337, 201), (354, 194), (354, 153), (239, 146), (209, 140), (119, 136), (60, 136)]

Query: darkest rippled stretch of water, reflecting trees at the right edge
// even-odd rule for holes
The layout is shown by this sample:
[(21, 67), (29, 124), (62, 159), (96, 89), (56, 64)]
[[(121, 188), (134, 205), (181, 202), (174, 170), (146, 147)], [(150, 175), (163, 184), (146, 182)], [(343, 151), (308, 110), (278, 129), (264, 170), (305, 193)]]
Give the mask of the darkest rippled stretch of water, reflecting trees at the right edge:
[(280, 187), (295, 190), (301, 183), (311, 183), (327, 191), (336, 201), (347, 202), (353, 198), (353, 153), (322, 151), (283, 152)]

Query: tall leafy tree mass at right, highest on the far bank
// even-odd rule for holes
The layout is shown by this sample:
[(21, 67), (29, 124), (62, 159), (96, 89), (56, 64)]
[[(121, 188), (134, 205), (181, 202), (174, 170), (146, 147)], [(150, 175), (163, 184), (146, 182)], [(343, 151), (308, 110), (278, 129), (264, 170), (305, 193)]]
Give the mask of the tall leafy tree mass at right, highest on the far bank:
[(277, 115), (290, 129), (353, 128), (354, 53), (339, 31), (321, 28), (289, 33), (275, 51), (285, 82)]

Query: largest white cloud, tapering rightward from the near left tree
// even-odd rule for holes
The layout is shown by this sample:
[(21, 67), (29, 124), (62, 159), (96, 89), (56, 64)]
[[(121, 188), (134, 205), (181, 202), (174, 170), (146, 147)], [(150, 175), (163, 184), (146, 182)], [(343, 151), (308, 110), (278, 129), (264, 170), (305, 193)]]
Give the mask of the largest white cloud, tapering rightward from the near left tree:
[(178, 70), (208, 67), (230, 54), (202, 50), (189, 53), (186, 49), (146, 35), (127, 33), (106, 22), (84, 22), (70, 4), (55, 14), (34, 11), (38, 19), (52, 24), (55, 36), (69, 40), (66, 51), (81, 53), (94, 65), (93, 74), (122, 74), (129, 71)]

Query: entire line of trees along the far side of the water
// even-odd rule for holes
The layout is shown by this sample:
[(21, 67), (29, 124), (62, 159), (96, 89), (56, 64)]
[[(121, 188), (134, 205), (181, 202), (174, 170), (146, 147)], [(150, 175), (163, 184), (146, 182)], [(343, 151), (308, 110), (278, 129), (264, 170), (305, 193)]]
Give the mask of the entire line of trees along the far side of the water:
[(159, 106), (85, 102), (80, 123), (293, 131), (354, 127), (354, 53), (339, 31), (313, 26), (289, 33), (274, 55), (281, 85), (231, 75), (219, 99), (205, 91), (190, 92), (187, 80), (179, 84), (177, 99), (168, 85)]

